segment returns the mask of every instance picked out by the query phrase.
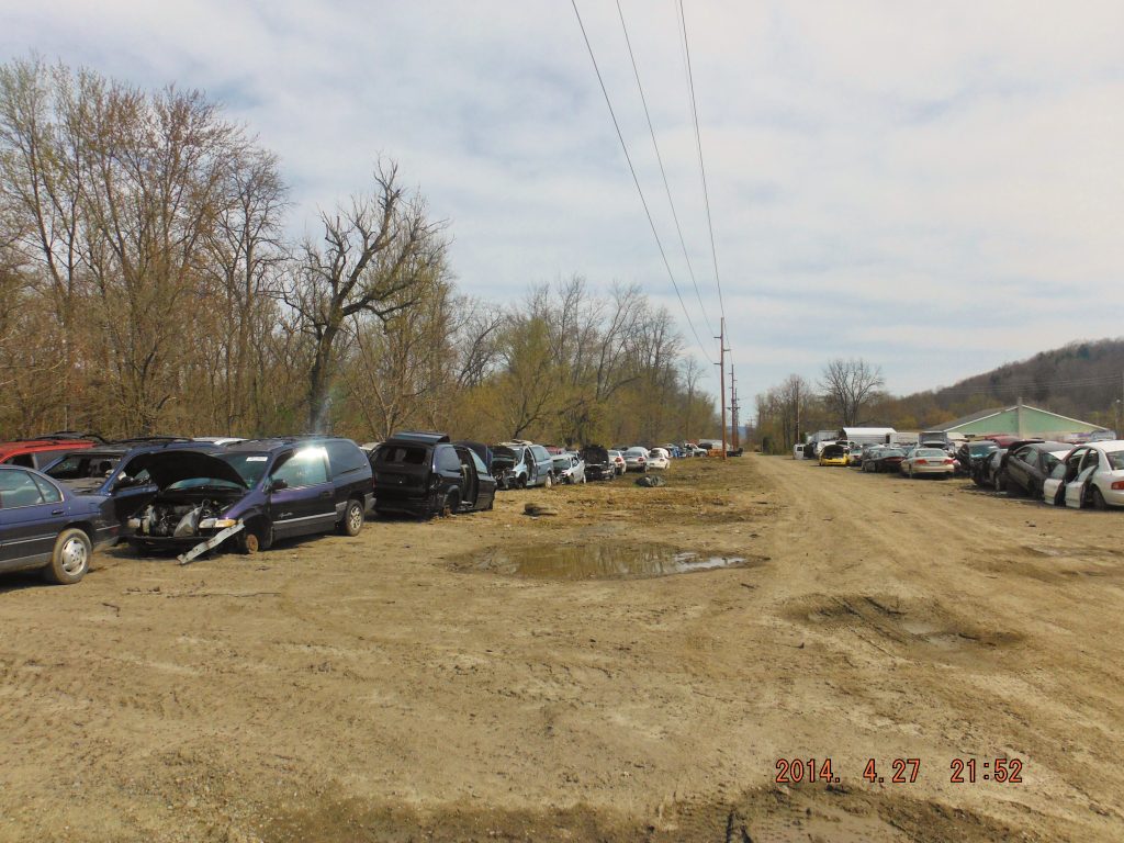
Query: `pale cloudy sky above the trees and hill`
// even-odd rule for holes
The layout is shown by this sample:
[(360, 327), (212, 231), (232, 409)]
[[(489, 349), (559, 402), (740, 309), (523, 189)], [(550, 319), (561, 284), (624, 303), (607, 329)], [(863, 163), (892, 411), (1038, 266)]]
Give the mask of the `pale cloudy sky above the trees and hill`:
[[(616, 3), (578, 8), (707, 341), (719, 305), (676, 6), (620, 1), (703, 307)], [(744, 399), (840, 355), (904, 392), (1124, 334), (1120, 0), (685, 9)], [(450, 220), (465, 291), (637, 282), (704, 360), (569, 0), (0, 0), (0, 24), (4, 58), (221, 100), (282, 156), (296, 234), (381, 153)]]

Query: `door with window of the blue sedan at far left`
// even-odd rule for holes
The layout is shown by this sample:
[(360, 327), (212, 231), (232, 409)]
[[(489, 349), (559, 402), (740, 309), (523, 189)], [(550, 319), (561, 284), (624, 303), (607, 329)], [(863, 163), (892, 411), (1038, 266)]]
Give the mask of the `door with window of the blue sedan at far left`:
[[(44, 490), (48, 495), (44, 495)], [(22, 568), (46, 563), (66, 520), (62, 496), (30, 472), (0, 471), (0, 563)]]

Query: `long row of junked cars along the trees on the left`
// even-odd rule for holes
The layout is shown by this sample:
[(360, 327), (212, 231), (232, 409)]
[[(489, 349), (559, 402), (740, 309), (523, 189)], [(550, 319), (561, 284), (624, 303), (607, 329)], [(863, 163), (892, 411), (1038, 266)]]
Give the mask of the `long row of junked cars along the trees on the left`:
[(0, 571), (78, 582), (94, 550), (118, 542), (181, 562), (220, 545), (255, 553), (333, 529), (357, 535), (372, 511), (491, 509), (500, 489), (610, 480), (671, 459), (659, 447), (489, 446), (426, 432), (364, 446), (333, 436), (52, 434), (0, 444)]

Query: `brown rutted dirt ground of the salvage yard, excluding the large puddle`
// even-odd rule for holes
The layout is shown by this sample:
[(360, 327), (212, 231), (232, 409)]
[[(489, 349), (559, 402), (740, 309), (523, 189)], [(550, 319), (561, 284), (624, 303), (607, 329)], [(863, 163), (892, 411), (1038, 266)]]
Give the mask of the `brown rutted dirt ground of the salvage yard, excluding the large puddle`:
[[(0, 841), (1124, 839), (1124, 514), (781, 457), (667, 478), (0, 578)], [(650, 544), (745, 564), (479, 564)]]

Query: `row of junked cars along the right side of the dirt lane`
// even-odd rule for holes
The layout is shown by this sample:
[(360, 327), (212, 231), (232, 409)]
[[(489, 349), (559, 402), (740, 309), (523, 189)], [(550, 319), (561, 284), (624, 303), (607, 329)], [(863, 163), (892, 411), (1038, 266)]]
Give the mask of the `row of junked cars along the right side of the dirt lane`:
[(853, 465), (908, 477), (970, 475), (980, 487), (1075, 509), (1124, 507), (1124, 441), (1079, 445), (996, 435), (908, 447), (839, 442), (821, 450), (821, 465)]

